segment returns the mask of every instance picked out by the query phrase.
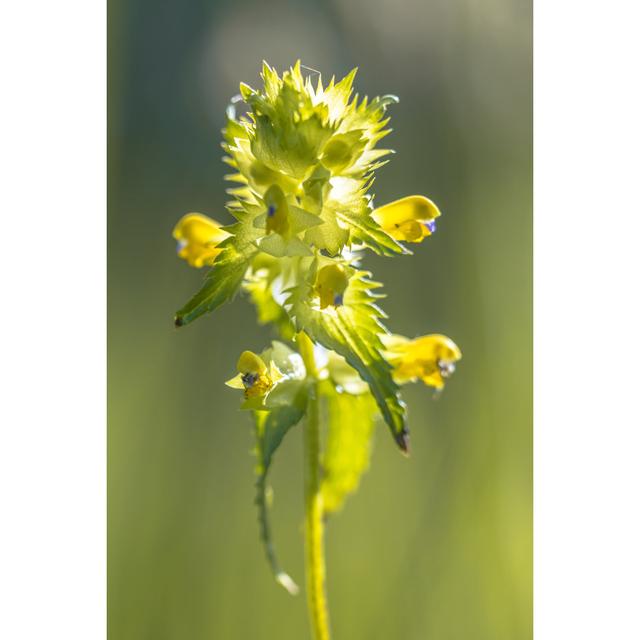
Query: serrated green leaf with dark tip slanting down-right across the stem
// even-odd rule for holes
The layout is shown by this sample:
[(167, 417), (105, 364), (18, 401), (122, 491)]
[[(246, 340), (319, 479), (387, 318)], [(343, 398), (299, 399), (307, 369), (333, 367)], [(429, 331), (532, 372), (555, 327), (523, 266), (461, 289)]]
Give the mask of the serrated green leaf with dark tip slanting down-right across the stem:
[(351, 272), (344, 305), (340, 307), (318, 308), (311, 285), (313, 270), (311, 282), (293, 290), (286, 304), (291, 305), (299, 331), (304, 330), (312, 340), (341, 355), (369, 385), (396, 444), (407, 453), (405, 405), (391, 376), (391, 365), (381, 354), (384, 347), (379, 336), (387, 330), (380, 321), (384, 313), (374, 304), (381, 297), (374, 290), (381, 285), (368, 280), (367, 272)]

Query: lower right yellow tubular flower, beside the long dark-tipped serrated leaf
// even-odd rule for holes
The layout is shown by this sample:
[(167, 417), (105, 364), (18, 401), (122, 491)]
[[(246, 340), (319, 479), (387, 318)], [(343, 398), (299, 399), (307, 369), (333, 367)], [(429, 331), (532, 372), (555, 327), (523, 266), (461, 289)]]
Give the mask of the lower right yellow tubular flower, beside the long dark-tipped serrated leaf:
[(446, 378), (455, 371), (455, 363), (462, 358), (455, 342), (440, 334), (414, 340), (403, 336), (383, 336), (383, 342), (398, 384), (422, 380), (429, 387), (442, 389)]

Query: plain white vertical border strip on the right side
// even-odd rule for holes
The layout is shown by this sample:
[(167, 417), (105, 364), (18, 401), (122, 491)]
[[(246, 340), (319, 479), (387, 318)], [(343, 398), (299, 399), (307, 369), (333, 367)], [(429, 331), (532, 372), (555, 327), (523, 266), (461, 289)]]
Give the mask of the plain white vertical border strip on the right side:
[(638, 7), (535, 4), (535, 637), (640, 638)]

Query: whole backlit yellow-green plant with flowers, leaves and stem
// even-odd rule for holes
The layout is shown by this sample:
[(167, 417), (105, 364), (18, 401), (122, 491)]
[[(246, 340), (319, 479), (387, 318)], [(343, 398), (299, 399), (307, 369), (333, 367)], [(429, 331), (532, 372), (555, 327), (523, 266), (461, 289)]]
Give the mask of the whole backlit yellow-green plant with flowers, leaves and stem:
[(327, 516), (357, 489), (378, 418), (408, 452), (400, 386), (421, 380), (440, 390), (461, 357), (443, 335), (390, 334), (378, 306), (381, 285), (360, 266), (367, 250), (410, 254), (404, 243), (432, 235), (440, 211), (424, 196), (375, 206), (374, 172), (391, 153), (377, 145), (397, 98), (359, 100), (354, 76), (325, 87), (320, 77), (305, 77), (300, 63), (282, 76), (265, 63), (262, 89), (240, 85), (247, 115), (230, 108), (223, 130), (235, 222), (221, 226), (189, 213), (174, 230), (178, 255), (209, 268), (176, 326), (245, 291), (258, 321), (279, 334), (261, 353), (241, 353), (227, 384), (241, 391), (253, 417), (260, 534), (275, 579), (291, 593), (298, 588), (271, 539), (267, 474), (284, 436), (302, 424), (307, 597), (317, 640), (329, 638)]

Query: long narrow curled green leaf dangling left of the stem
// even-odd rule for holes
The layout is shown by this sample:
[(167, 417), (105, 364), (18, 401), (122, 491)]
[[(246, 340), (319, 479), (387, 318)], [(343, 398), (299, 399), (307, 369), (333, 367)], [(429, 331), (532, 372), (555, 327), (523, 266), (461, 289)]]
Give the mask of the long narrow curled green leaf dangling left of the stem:
[(274, 578), (290, 594), (298, 593), (298, 586), (291, 577), (282, 570), (273, 546), (271, 524), (269, 521), (269, 507), (267, 500), (267, 473), (283, 438), (304, 415), (304, 410), (296, 406), (277, 407), (271, 411), (255, 411), (256, 434), (256, 498), (258, 507), (258, 524), (260, 525), (260, 539), (264, 544), (267, 560), (271, 565)]

